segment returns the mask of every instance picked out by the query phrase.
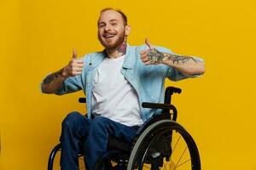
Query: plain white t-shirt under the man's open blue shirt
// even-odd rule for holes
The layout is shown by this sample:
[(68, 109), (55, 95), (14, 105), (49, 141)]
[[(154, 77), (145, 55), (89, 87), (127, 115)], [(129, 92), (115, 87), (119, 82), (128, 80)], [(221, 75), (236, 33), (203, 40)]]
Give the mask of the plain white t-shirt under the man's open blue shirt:
[(98, 66), (92, 88), (92, 114), (127, 126), (140, 126), (143, 119), (137, 93), (120, 72), (124, 60), (125, 55), (117, 59), (106, 57)]

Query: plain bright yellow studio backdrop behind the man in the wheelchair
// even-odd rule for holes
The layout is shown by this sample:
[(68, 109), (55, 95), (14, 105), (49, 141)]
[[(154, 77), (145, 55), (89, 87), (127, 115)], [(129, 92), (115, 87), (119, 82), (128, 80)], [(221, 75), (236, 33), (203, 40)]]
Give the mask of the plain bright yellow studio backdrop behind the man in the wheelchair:
[(203, 77), (166, 82), (183, 89), (173, 99), (177, 122), (194, 137), (202, 169), (256, 169), (253, 0), (1, 0), (0, 169), (46, 169), (63, 118), (85, 112), (82, 92), (46, 95), (39, 85), (67, 65), (73, 48), (79, 56), (102, 49), (96, 20), (106, 7), (127, 14), (130, 44), (148, 37), (205, 59)]

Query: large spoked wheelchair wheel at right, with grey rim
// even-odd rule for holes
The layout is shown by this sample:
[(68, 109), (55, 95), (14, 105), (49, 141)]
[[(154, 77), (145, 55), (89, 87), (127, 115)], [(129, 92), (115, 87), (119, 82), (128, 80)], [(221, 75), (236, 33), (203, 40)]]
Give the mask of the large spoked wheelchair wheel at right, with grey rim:
[(137, 139), (127, 170), (201, 170), (194, 139), (177, 122), (150, 125)]

